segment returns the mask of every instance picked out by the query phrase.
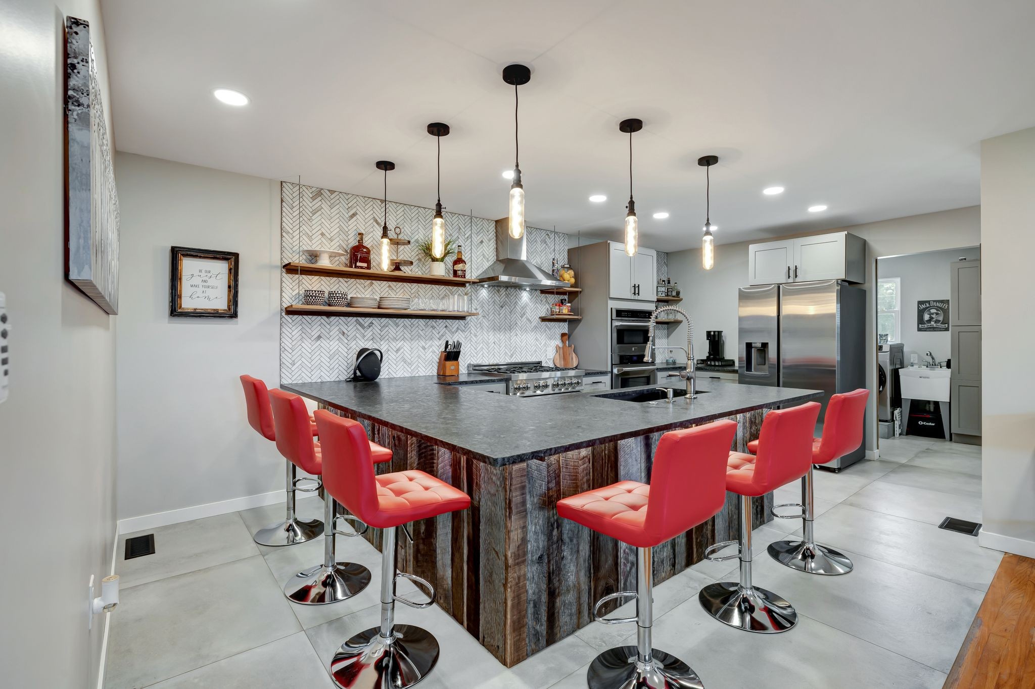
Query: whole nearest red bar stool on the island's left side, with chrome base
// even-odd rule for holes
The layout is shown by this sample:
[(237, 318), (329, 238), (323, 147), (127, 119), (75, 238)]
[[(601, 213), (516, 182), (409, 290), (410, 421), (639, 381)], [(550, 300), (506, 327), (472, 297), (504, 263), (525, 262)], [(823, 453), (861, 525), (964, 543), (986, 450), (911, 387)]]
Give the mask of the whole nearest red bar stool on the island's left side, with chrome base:
[[(435, 587), (395, 571), (395, 528), (467, 509), (471, 498), (423, 471), (375, 475), (363, 427), (327, 411), (316, 413), (324, 448), (324, 490), (363, 523), (382, 529), (381, 625), (351, 637), (330, 662), (331, 679), (348, 689), (405, 689), (427, 677), (439, 659), (439, 643), (425, 629), (395, 624), (395, 601), (411, 607), (435, 603)], [(412, 538), (411, 538), (412, 541)], [(426, 602), (395, 594), (400, 576), (425, 587)]]

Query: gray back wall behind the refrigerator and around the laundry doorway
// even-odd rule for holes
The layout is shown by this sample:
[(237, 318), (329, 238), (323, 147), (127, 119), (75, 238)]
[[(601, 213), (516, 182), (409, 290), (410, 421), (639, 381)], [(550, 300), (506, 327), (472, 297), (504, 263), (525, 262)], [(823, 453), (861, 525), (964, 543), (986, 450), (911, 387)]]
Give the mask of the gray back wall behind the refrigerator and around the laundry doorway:
[[(926, 213), (906, 218), (882, 220), (850, 227), (832, 227), (823, 231), (803, 232), (788, 237), (823, 234), (848, 230), (866, 241), (866, 313), (876, 313), (871, 286), (878, 256), (917, 253), (937, 249), (954, 249), (976, 246), (980, 242), (980, 209), (977, 206)], [(772, 238), (781, 239), (781, 238)], [(669, 275), (678, 280), (683, 289), (683, 307), (693, 317), (698, 338), (705, 330), (726, 332), (727, 356), (736, 358), (737, 342), (737, 287), (747, 283), (747, 247), (753, 242), (720, 244), (715, 248), (715, 268), (701, 268), (701, 250), (671, 252)], [(987, 269), (986, 269), (987, 270)], [(683, 287), (683, 285), (686, 285)], [(698, 314), (702, 314), (698, 317)], [(877, 389), (877, 336), (874, 317), (866, 323), (866, 380), (873, 393)], [(672, 342), (686, 337), (683, 325), (674, 333)], [(733, 343), (732, 345), (730, 343)], [(866, 449), (877, 448), (877, 396), (869, 396), (866, 410)]]

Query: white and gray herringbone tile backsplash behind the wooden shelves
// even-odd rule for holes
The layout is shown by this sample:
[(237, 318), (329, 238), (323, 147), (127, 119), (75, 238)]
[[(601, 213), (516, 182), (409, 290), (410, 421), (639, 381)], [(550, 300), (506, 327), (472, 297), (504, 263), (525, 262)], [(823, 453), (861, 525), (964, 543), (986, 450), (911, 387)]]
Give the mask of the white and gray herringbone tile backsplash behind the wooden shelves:
[[(303, 249), (348, 251), (361, 231), (377, 264), (383, 209), (379, 198), (282, 183), (282, 263), (314, 260), (301, 253)], [(418, 256), (416, 244), (430, 239), (434, 211), (392, 201), (388, 202), (387, 210), (389, 229), (402, 227), (402, 237), (413, 243), (402, 247), (400, 254), (415, 261), (409, 272), (428, 273), (428, 263)], [(468, 275), (478, 275), (496, 259), (495, 222), (456, 213), (444, 215), (446, 236), (464, 246)], [(560, 262), (565, 260), (567, 242), (568, 236), (564, 233), (528, 228), (529, 257), (548, 271), (555, 257)], [(661, 277), (666, 261), (661, 254), (658, 255), (658, 275)], [(348, 378), (356, 351), (361, 347), (376, 347), (384, 352), (382, 376), (434, 375), (438, 352), (446, 340), (463, 341), (462, 370), (468, 364), (545, 362), (553, 358), (554, 345), (559, 343), (560, 334), (567, 331), (565, 323), (539, 320), (539, 316), (549, 312), (551, 297), (537, 291), (485, 286), (473, 286), (465, 291), (457, 287), (282, 274), (280, 306), (301, 304), (304, 289), (337, 289), (350, 295), (405, 294), (414, 299), (467, 293), (473, 300), (471, 310), (480, 315), (467, 320), (424, 320), (288, 316), (282, 311), (283, 383)], [(578, 300), (574, 306), (578, 308)]]

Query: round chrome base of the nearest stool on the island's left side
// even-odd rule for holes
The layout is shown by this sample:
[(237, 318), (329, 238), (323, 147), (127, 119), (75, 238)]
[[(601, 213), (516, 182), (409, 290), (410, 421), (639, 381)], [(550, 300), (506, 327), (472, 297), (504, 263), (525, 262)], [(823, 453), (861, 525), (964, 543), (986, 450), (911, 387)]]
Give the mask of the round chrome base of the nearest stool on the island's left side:
[[(386, 639), (378, 627), (361, 631), (334, 654), (330, 677), (344, 689), (406, 689), (432, 671), (439, 643), (426, 629), (396, 624)], [(633, 651), (635, 651), (633, 649)]]

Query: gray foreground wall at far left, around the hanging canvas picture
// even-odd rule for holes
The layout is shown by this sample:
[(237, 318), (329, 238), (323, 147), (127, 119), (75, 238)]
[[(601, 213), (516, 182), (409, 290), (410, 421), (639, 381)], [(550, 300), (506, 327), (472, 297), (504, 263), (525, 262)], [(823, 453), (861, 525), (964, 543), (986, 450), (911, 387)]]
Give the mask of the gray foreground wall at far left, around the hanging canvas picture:
[(117, 318), (64, 280), (64, 14), (91, 25), (111, 113), (96, 0), (0, 2), (0, 684), (12, 688), (96, 686), (108, 616), (87, 631), (87, 584), (111, 572), (115, 536)]

